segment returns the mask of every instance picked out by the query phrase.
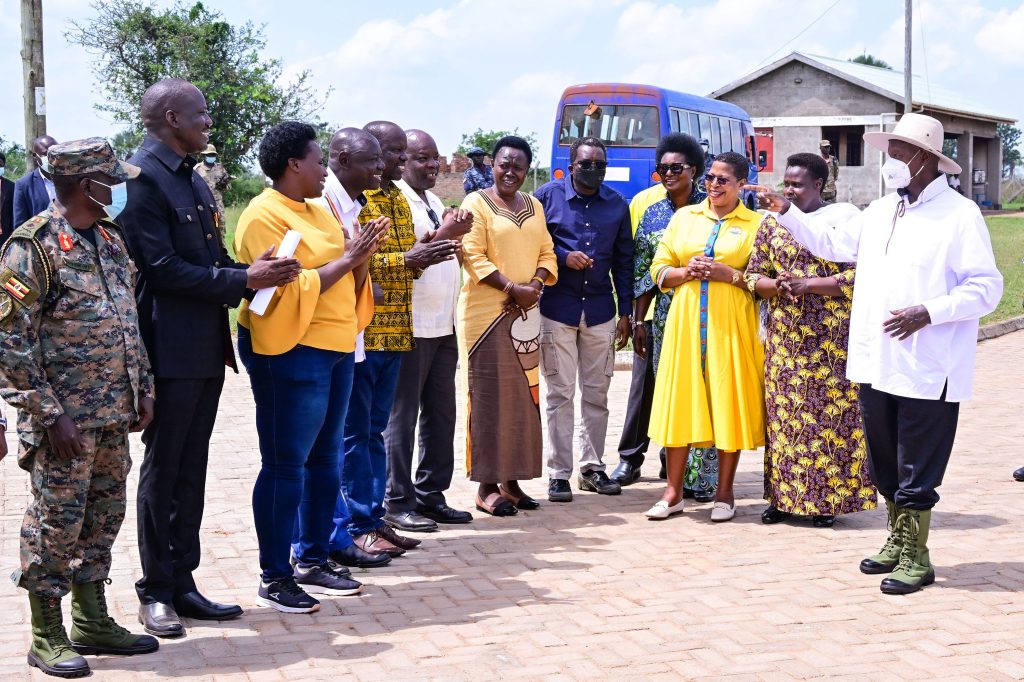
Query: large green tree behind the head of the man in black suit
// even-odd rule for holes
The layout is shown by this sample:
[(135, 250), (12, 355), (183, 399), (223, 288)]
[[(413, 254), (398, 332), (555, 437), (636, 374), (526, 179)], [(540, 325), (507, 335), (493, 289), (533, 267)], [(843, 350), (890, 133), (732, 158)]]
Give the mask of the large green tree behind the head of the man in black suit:
[(92, 15), (72, 22), (66, 37), (93, 55), (105, 100), (96, 108), (142, 131), (139, 101), (162, 78), (183, 78), (206, 95), (211, 142), (228, 171), (252, 161), (267, 128), (310, 120), (324, 103), (308, 71), (280, 85), (281, 59), (264, 58), (264, 27), (231, 26), (201, 2), (160, 9), (154, 0), (96, 0)]

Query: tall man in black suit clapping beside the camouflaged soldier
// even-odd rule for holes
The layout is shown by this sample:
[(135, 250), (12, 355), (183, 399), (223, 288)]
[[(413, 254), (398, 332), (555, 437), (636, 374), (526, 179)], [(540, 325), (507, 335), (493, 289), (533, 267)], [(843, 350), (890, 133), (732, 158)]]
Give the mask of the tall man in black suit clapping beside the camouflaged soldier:
[(293, 258), (267, 250), (248, 266), (227, 255), (217, 228), (223, 217), (188, 156), (210, 141), (206, 98), (187, 81), (165, 79), (142, 95), (146, 138), (131, 162), (142, 169), (119, 222), (138, 266), (139, 326), (156, 377), (157, 406), (142, 434), (135, 584), (139, 622), (160, 637), (184, 634), (178, 615), (226, 621), (242, 613), (196, 587), (206, 469), (224, 384), (238, 371), (227, 308), (252, 290), (295, 280)]

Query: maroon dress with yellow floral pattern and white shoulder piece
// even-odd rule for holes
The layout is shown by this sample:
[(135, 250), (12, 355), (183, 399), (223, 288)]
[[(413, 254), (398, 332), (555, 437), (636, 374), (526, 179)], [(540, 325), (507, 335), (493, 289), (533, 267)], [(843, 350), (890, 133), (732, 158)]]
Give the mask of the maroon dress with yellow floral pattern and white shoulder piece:
[[(811, 224), (842, 224), (850, 204), (809, 214)], [(854, 267), (815, 258), (772, 216), (761, 223), (746, 268), (751, 290), (762, 276), (836, 278), (843, 296), (807, 294), (765, 301), (765, 500), (804, 516), (872, 509), (857, 386), (846, 379)]]

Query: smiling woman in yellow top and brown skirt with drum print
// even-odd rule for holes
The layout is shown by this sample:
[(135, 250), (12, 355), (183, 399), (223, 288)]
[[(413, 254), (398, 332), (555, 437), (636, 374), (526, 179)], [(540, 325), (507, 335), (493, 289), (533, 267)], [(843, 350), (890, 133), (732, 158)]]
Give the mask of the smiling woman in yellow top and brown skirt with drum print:
[(466, 197), (459, 345), (469, 382), (466, 472), (476, 508), (512, 516), (540, 505), (519, 487), (541, 475), (541, 290), (558, 264), (541, 203), (519, 191), (532, 153), (521, 137), (498, 140), (495, 184)]

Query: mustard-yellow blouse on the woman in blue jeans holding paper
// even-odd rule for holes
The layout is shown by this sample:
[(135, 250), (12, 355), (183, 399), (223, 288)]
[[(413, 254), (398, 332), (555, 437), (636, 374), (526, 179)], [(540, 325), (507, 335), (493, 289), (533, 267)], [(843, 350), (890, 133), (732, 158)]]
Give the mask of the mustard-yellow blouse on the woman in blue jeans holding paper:
[(299, 278), (279, 287), (262, 315), (250, 314), (249, 302), (239, 310), (239, 324), (252, 332), (253, 350), (280, 355), (296, 345), (350, 353), (356, 335), (374, 312), (370, 279), (356, 293), (351, 272), (321, 292), (322, 267), (345, 253), (345, 235), (331, 213), (315, 204), (295, 202), (267, 187), (239, 218), (234, 251), (239, 262), (251, 263), (290, 229), (302, 233), (295, 257), (302, 265)]

